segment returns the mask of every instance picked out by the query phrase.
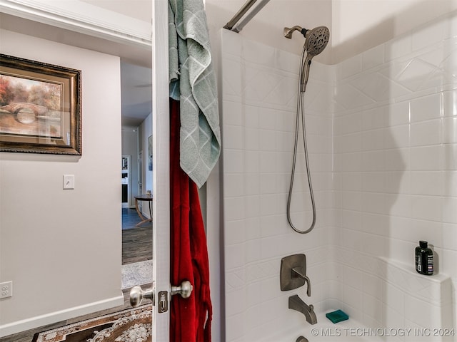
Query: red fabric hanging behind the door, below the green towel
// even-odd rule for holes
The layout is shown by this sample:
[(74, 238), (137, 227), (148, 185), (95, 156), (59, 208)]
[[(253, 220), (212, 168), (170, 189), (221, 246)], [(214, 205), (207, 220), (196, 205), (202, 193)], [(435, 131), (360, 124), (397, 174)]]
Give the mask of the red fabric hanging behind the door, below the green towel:
[(191, 281), (189, 299), (171, 299), (170, 342), (210, 342), (212, 307), (206, 234), (196, 184), (179, 166), (179, 101), (170, 99), (170, 281)]

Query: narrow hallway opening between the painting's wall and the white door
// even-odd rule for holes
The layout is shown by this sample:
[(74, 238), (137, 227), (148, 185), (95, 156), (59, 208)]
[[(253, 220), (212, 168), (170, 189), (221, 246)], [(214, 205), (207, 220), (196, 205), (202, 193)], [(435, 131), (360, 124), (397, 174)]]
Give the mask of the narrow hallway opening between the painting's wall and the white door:
[[(152, 190), (151, 68), (121, 63), (122, 103), (122, 289), (152, 282), (153, 222), (148, 203), (137, 196)], [(144, 160), (144, 158), (146, 158)], [(138, 211), (136, 206), (138, 205)]]

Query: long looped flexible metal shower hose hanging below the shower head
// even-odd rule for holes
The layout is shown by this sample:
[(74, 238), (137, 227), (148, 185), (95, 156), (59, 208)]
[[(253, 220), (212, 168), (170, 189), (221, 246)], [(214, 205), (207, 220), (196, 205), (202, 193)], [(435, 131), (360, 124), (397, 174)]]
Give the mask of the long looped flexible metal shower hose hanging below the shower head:
[[(311, 172), (309, 171), (309, 162), (308, 162), (308, 147), (306, 146), (306, 129), (305, 129), (305, 113), (304, 113), (304, 96), (305, 92), (301, 91), (301, 76), (304, 71), (303, 68), (303, 60), (306, 53), (306, 46), (303, 46), (303, 53), (301, 53), (300, 59), (300, 75), (298, 77), (298, 91), (297, 91), (297, 108), (296, 108), (296, 123), (295, 123), (295, 143), (293, 145), (293, 160), (292, 160), (292, 172), (291, 172), (291, 185), (288, 189), (288, 199), (287, 199), (287, 221), (291, 228), (300, 234), (306, 234), (313, 230), (314, 225), (316, 224), (316, 204), (314, 204), (314, 194), (313, 194), (313, 186), (311, 185)], [(305, 150), (305, 162), (306, 162), (306, 174), (308, 175), (308, 185), (309, 185), (309, 192), (311, 196), (311, 205), (313, 207), (313, 222), (311, 222), (311, 226), (306, 230), (297, 229), (292, 222), (291, 219), (291, 199), (292, 199), (292, 190), (293, 190), (293, 178), (295, 177), (295, 166), (296, 166), (296, 159), (297, 159), (297, 147), (298, 147), (298, 128), (300, 125), (300, 118), (301, 118), (301, 126), (303, 131), (303, 147)]]

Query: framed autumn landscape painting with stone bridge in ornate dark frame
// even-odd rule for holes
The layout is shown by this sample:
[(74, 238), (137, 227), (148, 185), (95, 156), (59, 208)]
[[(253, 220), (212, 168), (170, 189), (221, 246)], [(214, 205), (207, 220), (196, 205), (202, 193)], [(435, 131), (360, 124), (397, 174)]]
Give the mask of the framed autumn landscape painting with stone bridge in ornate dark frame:
[(81, 71), (0, 54), (0, 152), (81, 155)]

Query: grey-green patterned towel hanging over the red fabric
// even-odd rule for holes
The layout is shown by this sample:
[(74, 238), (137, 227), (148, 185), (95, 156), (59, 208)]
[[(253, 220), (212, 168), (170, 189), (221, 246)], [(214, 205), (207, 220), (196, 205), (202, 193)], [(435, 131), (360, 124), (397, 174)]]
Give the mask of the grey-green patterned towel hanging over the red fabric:
[(170, 97), (180, 101), (181, 168), (201, 187), (221, 152), (216, 74), (201, 0), (169, 0)]

